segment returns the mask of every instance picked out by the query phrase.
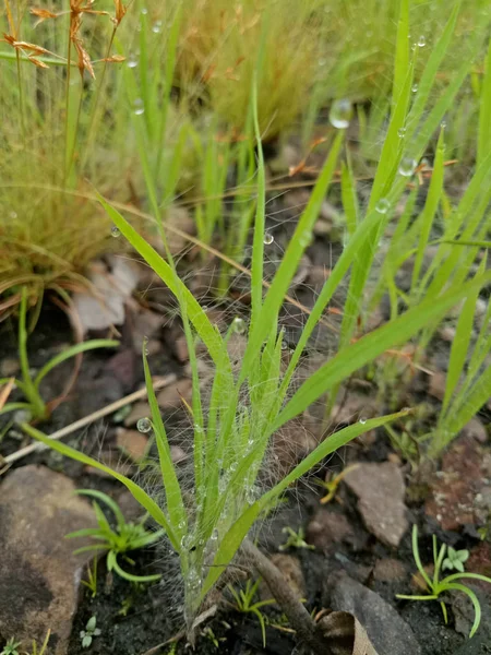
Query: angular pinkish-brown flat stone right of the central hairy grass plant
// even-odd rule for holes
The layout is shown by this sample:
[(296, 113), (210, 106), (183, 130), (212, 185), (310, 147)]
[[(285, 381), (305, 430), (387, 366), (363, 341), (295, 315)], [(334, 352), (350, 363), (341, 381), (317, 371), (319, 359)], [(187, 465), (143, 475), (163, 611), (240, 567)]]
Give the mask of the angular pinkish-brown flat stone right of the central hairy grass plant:
[(358, 510), (367, 529), (383, 544), (397, 548), (408, 527), (400, 468), (392, 462), (363, 463), (350, 471), (344, 481), (358, 497)]

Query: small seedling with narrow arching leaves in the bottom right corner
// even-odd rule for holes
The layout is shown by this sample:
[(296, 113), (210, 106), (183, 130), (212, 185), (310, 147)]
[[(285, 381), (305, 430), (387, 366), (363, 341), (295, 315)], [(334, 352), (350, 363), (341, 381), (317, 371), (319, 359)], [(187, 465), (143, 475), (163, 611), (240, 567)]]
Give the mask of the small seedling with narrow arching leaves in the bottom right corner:
[[(450, 549), (448, 549), (450, 550)], [(474, 624), (469, 633), (469, 639), (476, 634), (477, 629), (479, 628), (479, 623), (481, 622), (481, 605), (479, 603), (479, 598), (476, 594), (465, 584), (460, 584), (458, 581), (464, 579), (471, 580), (482, 580), (483, 582), (489, 582), (491, 584), (491, 577), (487, 577), (486, 575), (480, 575), (479, 573), (453, 573), (452, 575), (447, 575), (443, 580), (440, 580), (440, 572), (442, 570), (442, 564), (444, 563), (446, 552), (446, 544), (442, 544), (440, 546), (440, 551), (438, 549), (436, 537), (433, 535), (433, 561), (434, 561), (434, 571), (433, 579), (431, 580), (428, 573), (424, 571), (423, 565), (421, 564), (421, 559), (419, 557), (419, 547), (418, 547), (418, 527), (416, 525), (412, 526), (412, 556), (415, 558), (416, 567), (423, 579), (428, 595), (427, 596), (406, 596), (403, 594), (397, 594), (396, 598), (402, 598), (405, 600), (439, 600), (440, 606), (442, 607), (443, 618), (445, 623), (448, 621), (448, 615), (446, 610), (445, 602), (442, 600), (441, 596), (445, 592), (462, 592), (463, 594), (467, 594), (474, 605), (475, 619)], [(458, 551), (466, 552), (466, 551)], [(466, 558), (467, 559), (467, 558)], [(465, 561), (465, 560), (464, 560)], [(463, 560), (459, 559), (458, 562), (463, 565)], [(454, 561), (455, 567), (455, 561)], [(444, 568), (444, 567), (443, 567)], [(463, 567), (464, 568), (464, 567)]]

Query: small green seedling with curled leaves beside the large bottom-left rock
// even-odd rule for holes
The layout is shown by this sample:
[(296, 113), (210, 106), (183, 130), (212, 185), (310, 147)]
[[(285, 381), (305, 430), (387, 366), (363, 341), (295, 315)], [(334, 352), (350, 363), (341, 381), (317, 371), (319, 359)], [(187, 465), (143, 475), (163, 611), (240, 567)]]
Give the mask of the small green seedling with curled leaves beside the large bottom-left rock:
[[(94, 544), (91, 546), (84, 546), (83, 548), (79, 548), (75, 550), (75, 553), (86, 552), (86, 551), (101, 551), (107, 550), (107, 568), (108, 571), (115, 571), (123, 577), (124, 580), (129, 580), (130, 582), (153, 582), (155, 580), (160, 580), (160, 575), (133, 575), (132, 573), (128, 573), (118, 563), (118, 556), (123, 556), (124, 560), (130, 564), (134, 564), (134, 561), (130, 559), (127, 552), (131, 550), (137, 550), (139, 548), (143, 548), (144, 546), (148, 546), (149, 544), (154, 544), (158, 539), (163, 537), (165, 534), (163, 529), (158, 529), (156, 532), (149, 532), (145, 529), (144, 524), (148, 519), (148, 514), (145, 514), (143, 519), (139, 523), (130, 523), (124, 520), (124, 516), (121, 510), (109, 496), (103, 493), (101, 491), (95, 491), (93, 489), (80, 489), (76, 493), (82, 493), (84, 496), (91, 496), (93, 498), (97, 498), (101, 502), (104, 502), (115, 514), (116, 517), (116, 529), (112, 529), (109, 525), (108, 520), (104, 515), (100, 505), (94, 501), (94, 511), (96, 513), (97, 523), (99, 527), (95, 528), (85, 528), (79, 529), (76, 532), (70, 533), (67, 535), (68, 539), (73, 539), (76, 537), (92, 537), (93, 539), (97, 539), (101, 541), (100, 544)], [(86, 586), (93, 588), (93, 584), (91, 581)], [(94, 592), (93, 592), (94, 593)]]

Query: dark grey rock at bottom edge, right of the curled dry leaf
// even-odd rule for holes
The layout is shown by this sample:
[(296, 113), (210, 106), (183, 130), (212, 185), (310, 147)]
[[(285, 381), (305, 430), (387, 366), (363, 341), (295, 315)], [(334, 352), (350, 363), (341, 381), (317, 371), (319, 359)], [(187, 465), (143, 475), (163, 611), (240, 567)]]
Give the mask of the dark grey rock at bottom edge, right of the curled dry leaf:
[(352, 614), (363, 626), (378, 655), (419, 655), (420, 645), (409, 626), (379, 594), (346, 573), (327, 579), (324, 607)]

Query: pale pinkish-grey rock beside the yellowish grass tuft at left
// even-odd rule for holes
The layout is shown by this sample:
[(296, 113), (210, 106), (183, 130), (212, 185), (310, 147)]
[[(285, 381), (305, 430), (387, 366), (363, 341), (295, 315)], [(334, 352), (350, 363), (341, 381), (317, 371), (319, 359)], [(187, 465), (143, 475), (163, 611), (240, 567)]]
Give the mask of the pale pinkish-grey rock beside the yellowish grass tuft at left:
[(103, 262), (92, 264), (87, 277), (93, 293), (73, 294), (73, 303), (84, 333), (124, 322), (124, 305), (136, 287), (137, 273), (131, 262), (121, 258), (111, 257), (109, 261), (110, 269)]

